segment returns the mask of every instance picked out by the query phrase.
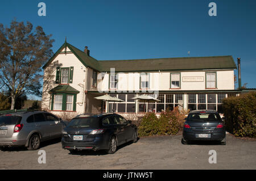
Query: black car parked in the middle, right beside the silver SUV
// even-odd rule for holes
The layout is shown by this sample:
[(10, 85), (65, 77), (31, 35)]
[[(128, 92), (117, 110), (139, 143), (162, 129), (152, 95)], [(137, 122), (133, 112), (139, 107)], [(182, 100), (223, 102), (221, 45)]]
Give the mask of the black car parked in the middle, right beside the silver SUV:
[(136, 125), (115, 113), (79, 115), (63, 129), (61, 144), (71, 153), (77, 150), (107, 150), (113, 154), (117, 146), (137, 142)]

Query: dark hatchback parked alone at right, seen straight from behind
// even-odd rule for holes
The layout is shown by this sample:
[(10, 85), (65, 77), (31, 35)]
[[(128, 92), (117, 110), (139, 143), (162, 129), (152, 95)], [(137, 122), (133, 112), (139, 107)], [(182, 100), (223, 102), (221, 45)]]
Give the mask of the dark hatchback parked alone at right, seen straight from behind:
[(225, 124), (217, 111), (191, 111), (184, 123), (182, 143), (195, 140), (220, 141), (226, 145)]

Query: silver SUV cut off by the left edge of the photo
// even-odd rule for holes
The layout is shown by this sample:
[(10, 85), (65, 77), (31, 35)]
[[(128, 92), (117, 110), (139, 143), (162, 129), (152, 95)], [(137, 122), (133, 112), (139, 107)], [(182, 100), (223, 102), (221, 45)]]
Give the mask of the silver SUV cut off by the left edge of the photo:
[(64, 125), (59, 117), (46, 111), (23, 111), (0, 116), (0, 148), (26, 146), (36, 150), (40, 142), (61, 137)]

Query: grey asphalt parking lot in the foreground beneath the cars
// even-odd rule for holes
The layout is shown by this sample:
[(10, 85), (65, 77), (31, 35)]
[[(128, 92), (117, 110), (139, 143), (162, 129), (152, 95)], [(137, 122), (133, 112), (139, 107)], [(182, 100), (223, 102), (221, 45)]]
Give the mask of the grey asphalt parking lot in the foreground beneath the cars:
[[(177, 136), (142, 137), (137, 143), (119, 146), (115, 154), (81, 151), (70, 154), (60, 140), (42, 143), (46, 163), (38, 163), (39, 150), (10, 148), (0, 151), (0, 169), (256, 169), (256, 141), (230, 134), (226, 145), (210, 142), (181, 144)], [(209, 163), (209, 150), (216, 150), (217, 163)]]

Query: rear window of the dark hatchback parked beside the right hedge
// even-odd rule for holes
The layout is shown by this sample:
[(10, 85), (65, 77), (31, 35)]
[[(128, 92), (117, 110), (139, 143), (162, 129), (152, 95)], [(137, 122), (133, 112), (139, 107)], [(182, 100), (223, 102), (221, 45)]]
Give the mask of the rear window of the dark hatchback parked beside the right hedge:
[(221, 120), (221, 117), (218, 113), (189, 113), (188, 121), (218, 121)]

